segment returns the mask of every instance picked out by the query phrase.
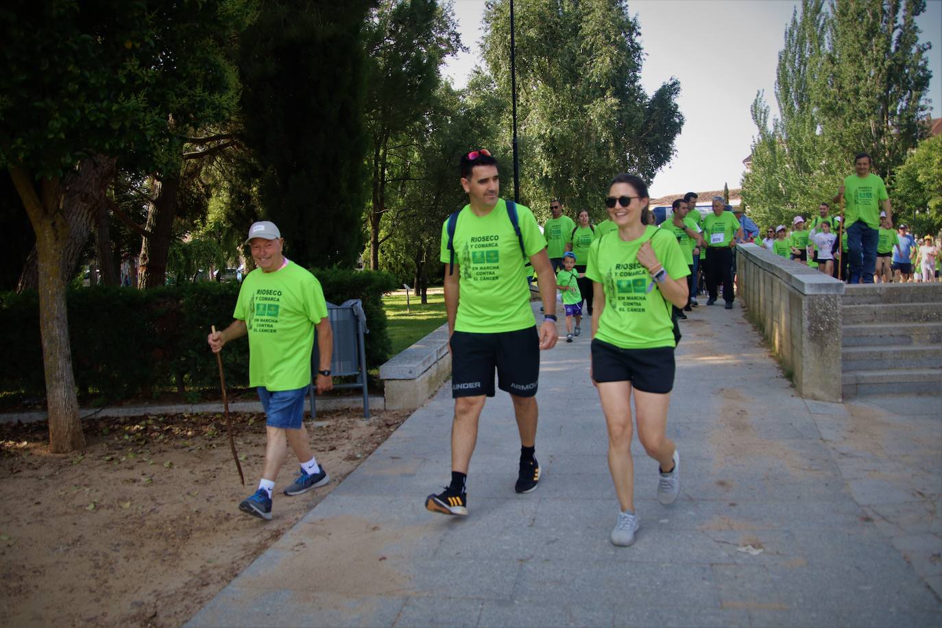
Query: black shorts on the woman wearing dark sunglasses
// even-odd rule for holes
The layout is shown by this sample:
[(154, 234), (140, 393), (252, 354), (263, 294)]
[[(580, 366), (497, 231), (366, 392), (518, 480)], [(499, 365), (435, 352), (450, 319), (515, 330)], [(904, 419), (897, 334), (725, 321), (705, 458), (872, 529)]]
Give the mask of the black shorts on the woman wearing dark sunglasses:
[(592, 341), (592, 377), (595, 381), (630, 381), (642, 393), (665, 395), (674, 389), (674, 347), (623, 349)]

